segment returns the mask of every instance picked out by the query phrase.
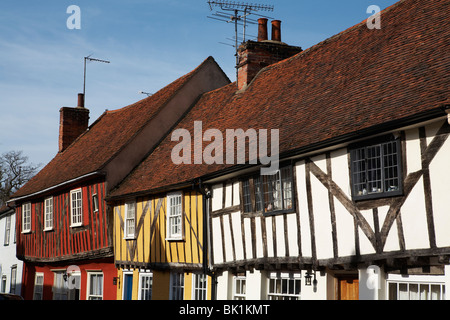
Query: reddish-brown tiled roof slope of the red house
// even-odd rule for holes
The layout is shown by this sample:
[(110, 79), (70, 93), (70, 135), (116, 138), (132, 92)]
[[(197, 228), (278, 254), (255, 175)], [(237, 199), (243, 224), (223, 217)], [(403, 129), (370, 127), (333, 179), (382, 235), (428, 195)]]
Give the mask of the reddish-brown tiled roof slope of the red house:
[(86, 174), (101, 171), (208, 60), (213, 59), (209, 57), (196, 69), (150, 97), (118, 110), (105, 111), (87, 131), (66, 150), (58, 153), (12, 198), (40, 192)]

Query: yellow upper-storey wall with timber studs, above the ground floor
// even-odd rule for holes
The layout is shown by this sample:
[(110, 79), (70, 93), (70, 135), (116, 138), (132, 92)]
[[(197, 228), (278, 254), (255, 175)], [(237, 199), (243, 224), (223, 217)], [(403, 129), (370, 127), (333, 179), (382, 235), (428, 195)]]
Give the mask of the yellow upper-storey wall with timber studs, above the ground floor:
[[(159, 209), (159, 210), (158, 210)], [(202, 263), (202, 196), (183, 193), (184, 240), (166, 240), (167, 197), (139, 198), (134, 240), (124, 239), (125, 203), (114, 208), (116, 261), (137, 263)], [(150, 237), (152, 239), (150, 239)]]

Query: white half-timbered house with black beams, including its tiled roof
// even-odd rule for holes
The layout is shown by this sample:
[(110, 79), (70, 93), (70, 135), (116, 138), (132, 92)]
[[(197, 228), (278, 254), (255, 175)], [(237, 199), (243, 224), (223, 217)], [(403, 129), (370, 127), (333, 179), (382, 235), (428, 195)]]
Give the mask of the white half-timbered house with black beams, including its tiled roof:
[(445, 299), (449, 5), (400, 1), (221, 107), (233, 128), (278, 128), (280, 162), (214, 177), (219, 298)]

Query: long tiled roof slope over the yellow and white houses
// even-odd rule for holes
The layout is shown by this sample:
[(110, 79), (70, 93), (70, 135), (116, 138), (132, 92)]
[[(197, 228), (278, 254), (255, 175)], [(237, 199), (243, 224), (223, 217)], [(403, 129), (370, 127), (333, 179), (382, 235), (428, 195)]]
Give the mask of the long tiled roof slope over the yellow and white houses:
[[(283, 154), (439, 109), (449, 102), (448, 12), (448, 0), (400, 1), (381, 12), (381, 30), (363, 21), (261, 70), (243, 93), (228, 85), (204, 94), (178, 128), (192, 137), (194, 121), (224, 136), (226, 129), (279, 129)], [(167, 137), (111, 196), (181, 184), (226, 167), (175, 165), (171, 150), (177, 144)]]

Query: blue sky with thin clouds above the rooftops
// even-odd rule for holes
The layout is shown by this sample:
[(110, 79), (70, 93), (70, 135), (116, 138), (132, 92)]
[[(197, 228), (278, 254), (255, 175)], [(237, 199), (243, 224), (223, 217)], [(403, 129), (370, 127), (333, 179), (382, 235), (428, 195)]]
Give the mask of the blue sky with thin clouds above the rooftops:
[[(365, 19), (370, 5), (396, 0), (254, 0), (282, 20), (282, 41), (307, 49)], [(68, 29), (67, 8), (81, 11)], [(155, 92), (213, 56), (235, 80), (234, 48), (220, 44), (234, 26), (208, 19), (206, 0), (59, 0), (0, 2), (0, 154), (22, 150), (46, 164), (58, 151), (59, 109), (74, 107), (87, 65), (90, 122)], [(270, 30), (270, 29), (269, 29)], [(270, 31), (269, 31), (270, 32)], [(249, 26), (248, 34), (257, 34)], [(117, 124), (120, 130), (120, 123)]]

